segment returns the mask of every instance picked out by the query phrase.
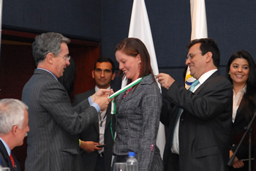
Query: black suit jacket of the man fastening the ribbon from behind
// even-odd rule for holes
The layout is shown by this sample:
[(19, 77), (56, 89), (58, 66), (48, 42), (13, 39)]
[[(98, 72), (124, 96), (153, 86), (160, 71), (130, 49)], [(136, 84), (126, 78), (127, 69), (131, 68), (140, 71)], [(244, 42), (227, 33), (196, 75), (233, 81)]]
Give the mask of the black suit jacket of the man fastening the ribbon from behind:
[[(214, 72), (192, 93), (174, 82), (165, 95), (175, 107), (163, 107), (162, 123), (167, 126), (164, 153), (165, 170), (171, 158), (175, 121), (181, 114), (179, 140), (179, 170), (228, 170), (229, 145), (232, 137), (233, 92), (230, 82)], [(169, 159), (168, 159), (169, 158)], [(169, 168), (171, 170), (171, 168)], [(174, 170), (173, 170), (174, 171)]]

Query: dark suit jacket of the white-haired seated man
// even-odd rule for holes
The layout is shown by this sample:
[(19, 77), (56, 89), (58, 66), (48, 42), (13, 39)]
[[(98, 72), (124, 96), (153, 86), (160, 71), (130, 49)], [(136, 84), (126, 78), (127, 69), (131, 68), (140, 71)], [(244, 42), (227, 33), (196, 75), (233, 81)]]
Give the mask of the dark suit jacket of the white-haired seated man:
[(1, 159), (1, 166), (2, 167), (10, 167), (10, 171), (20, 171), (20, 164), (14, 154), (12, 153), (12, 157), (15, 162), (15, 168), (12, 167), (12, 161), (10, 156), (7, 153), (6, 148), (4, 147), (3, 142), (0, 140), (0, 159)]

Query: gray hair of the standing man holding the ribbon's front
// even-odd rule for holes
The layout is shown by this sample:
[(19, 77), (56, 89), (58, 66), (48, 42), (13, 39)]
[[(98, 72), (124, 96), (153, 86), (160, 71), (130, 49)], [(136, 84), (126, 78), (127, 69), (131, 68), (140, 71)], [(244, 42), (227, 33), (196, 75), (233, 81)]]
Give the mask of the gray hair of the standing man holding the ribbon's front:
[(32, 45), (36, 65), (38, 65), (40, 61), (45, 60), (48, 53), (53, 53), (54, 56), (58, 56), (61, 52), (62, 42), (69, 44), (70, 39), (64, 37), (62, 34), (53, 32), (38, 35)]

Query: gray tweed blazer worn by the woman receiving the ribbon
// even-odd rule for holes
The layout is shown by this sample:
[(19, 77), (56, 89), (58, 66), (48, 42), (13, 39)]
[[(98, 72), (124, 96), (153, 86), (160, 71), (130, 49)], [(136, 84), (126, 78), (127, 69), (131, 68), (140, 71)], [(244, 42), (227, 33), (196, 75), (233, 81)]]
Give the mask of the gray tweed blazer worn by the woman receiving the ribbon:
[[(162, 170), (162, 159), (156, 145), (159, 118), (162, 108), (162, 95), (153, 75), (148, 75), (137, 88), (125, 96), (116, 97), (116, 142), (113, 153), (114, 162), (118, 156), (128, 156), (135, 151), (138, 170)], [(119, 158), (119, 159), (118, 159)], [(127, 157), (124, 157), (123, 161)]]

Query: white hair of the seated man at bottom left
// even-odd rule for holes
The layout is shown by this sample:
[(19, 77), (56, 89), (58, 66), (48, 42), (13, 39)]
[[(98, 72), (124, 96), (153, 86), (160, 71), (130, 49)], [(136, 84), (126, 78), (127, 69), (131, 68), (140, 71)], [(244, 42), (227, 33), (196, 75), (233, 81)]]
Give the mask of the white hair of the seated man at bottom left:
[(24, 122), (24, 110), (29, 107), (18, 99), (0, 100), (0, 134), (7, 134), (12, 126), (22, 128)]

